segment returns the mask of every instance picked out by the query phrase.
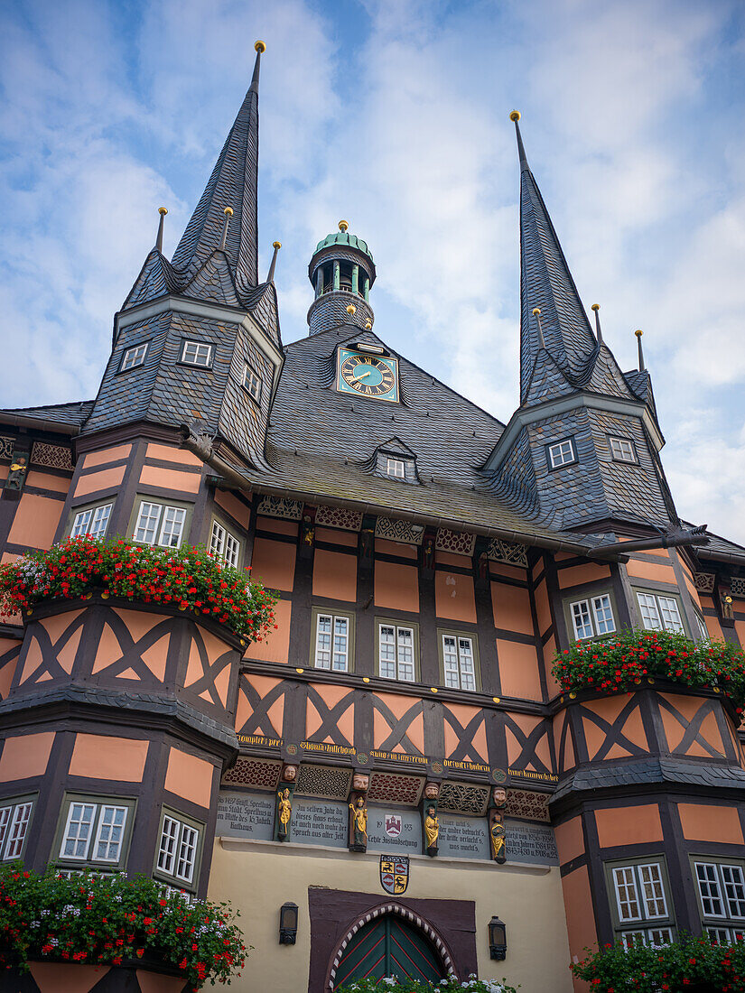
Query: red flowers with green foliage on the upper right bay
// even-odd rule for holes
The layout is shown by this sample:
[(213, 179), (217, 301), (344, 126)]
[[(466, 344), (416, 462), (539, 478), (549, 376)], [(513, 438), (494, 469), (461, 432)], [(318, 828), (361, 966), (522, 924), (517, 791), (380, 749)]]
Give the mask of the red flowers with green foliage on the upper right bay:
[(668, 631), (625, 631), (576, 641), (557, 652), (551, 671), (564, 691), (625, 693), (659, 676), (684, 686), (719, 689), (738, 713), (745, 705), (745, 655), (740, 648)]

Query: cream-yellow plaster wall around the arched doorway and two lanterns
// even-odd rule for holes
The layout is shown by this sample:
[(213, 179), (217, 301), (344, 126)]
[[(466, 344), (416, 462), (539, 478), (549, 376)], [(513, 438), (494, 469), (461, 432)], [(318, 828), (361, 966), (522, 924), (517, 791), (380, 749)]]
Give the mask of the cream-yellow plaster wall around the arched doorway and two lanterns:
[[(218, 838), (209, 897), (229, 900), (240, 910), (246, 944), (253, 945), (235, 993), (306, 993), (310, 961), (308, 888), (329, 887), (385, 900), (379, 882), (379, 854), (352, 854), (314, 845), (282, 845)], [(479, 975), (505, 976), (521, 993), (571, 993), (564, 902), (557, 867), (497, 866), (467, 859), (410, 857), (406, 897), (476, 902)], [(298, 905), (297, 943), (278, 942), (279, 908)], [(504, 962), (489, 957), (487, 924), (493, 915), (507, 923)], [(340, 935), (341, 937), (342, 935)], [(447, 935), (445, 935), (447, 937)], [(536, 948), (539, 953), (536, 953)], [(464, 979), (467, 977), (463, 977)], [(316, 991), (313, 991), (316, 993)]]

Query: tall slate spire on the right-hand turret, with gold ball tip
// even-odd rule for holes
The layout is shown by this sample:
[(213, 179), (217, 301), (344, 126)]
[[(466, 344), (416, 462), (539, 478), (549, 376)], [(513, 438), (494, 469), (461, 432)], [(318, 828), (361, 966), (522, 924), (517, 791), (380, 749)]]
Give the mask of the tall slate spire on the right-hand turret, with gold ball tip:
[(520, 111), (514, 110), (521, 164), (521, 403), (524, 402), (535, 357), (541, 347), (532, 318), (539, 308), (544, 347), (573, 384), (590, 371), (597, 342), (579, 299), (543, 198), (527, 165), (520, 132)]

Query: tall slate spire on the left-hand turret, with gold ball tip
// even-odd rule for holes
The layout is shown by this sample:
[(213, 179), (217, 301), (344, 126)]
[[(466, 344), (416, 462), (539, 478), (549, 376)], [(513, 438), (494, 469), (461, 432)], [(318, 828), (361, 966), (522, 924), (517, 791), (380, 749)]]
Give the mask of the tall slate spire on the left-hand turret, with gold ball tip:
[(251, 84), (173, 257), (177, 269), (193, 276), (219, 246), (229, 208), (224, 252), (239, 292), (258, 283), (258, 74), (266, 46), (256, 42), (254, 49)]

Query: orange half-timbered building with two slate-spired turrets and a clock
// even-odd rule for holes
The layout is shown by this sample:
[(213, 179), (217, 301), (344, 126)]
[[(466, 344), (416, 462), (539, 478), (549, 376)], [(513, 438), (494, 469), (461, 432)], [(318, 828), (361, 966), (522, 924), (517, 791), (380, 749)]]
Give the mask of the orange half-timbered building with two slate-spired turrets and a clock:
[(739, 936), (728, 700), (562, 694), (550, 671), (624, 628), (745, 643), (745, 548), (677, 515), (641, 338), (624, 371), (588, 321), (514, 114), (507, 423), (391, 347), (344, 221), (283, 345), (278, 244), (257, 267), (261, 51), (171, 259), (161, 213), (96, 395), (0, 411), (0, 544), (204, 543), (279, 591), (278, 627), (244, 648), (98, 595), (4, 623), (0, 859), (230, 900), (243, 990), (452, 971), (569, 991), (586, 945)]

